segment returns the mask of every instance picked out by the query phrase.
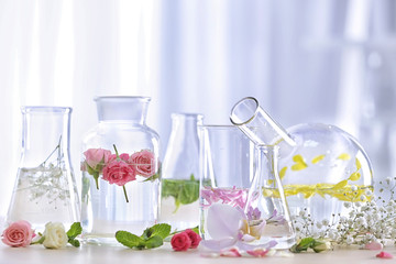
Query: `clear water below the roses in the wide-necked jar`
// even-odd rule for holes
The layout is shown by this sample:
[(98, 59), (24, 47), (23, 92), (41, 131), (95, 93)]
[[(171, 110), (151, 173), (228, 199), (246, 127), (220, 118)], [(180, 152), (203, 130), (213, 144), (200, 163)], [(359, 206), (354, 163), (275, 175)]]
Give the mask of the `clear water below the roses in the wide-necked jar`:
[(158, 218), (160, 180), (136, 179), (125, 184), (129, 202), (122, 186), (99, 180), (82, 173), (81, 226), (86, 242), (117, 244), (114, 234), (125, 230), (140, 235)]

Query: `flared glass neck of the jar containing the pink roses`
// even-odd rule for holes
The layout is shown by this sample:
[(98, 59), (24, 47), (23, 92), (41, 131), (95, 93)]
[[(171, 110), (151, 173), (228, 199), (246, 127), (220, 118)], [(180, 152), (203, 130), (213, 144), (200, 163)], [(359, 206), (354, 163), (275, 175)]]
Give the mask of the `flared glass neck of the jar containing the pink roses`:
[(124, 121), (145, 124), (148, 97), (98, 97), (99, 122)]

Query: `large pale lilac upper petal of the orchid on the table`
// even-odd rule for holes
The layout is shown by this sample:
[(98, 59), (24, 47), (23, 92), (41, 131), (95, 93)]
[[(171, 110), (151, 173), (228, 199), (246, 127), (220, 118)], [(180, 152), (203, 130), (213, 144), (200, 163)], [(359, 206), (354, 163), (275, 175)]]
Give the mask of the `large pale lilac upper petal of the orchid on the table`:
[(208, 234), (215, 240), (237, 238), (243, 215), (229, 205), (216, 204), (209, 207)]

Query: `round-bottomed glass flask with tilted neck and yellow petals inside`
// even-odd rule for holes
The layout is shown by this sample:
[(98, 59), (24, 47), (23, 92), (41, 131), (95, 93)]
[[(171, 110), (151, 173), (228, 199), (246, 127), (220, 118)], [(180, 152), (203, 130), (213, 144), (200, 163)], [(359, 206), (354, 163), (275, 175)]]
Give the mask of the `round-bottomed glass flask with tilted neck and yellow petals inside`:
[(293, 216), (306, 210), (315, 221), (332, 219), (348, 213), (344, 201), (372, 199), (365, 196), (373, 191), (371, 162), (345, 131), (320, 123), (285, 130), (252, 97), (237, 102), (230, 119), (255, 144), (279, 146), (279, 177)]

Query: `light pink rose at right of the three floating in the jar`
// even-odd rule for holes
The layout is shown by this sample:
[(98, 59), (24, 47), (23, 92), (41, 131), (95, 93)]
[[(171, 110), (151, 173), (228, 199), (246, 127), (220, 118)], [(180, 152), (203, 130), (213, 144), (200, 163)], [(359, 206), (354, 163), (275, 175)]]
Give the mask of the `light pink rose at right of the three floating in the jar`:
[(148, 150), (133, 153), (129, 162), (135, 167), (136, 174), (143, 177), (148, 178), (155, 174), (155, 156)]

